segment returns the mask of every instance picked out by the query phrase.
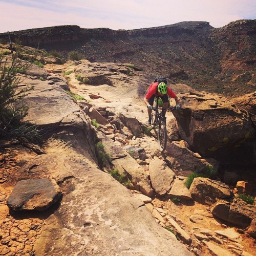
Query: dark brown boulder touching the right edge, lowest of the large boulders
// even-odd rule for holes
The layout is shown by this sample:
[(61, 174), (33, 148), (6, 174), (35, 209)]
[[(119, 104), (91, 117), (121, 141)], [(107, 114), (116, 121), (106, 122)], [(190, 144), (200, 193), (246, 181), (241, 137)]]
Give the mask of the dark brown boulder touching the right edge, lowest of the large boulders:
[(211, 213), (221, 220), (227, 221), (242, 228), (250, 225), (256, 217), (254, 205), (248, 205), (243, 200), (236, 198), (232, 202), (219, 200), (211, 207)]

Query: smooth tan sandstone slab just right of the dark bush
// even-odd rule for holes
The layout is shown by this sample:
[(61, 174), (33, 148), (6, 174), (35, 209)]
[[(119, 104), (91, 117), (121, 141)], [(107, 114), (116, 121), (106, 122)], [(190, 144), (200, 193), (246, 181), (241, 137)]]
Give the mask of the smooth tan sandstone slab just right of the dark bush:
[(23, 82), (33, 84), (34, 90), (29, 91), (24, 98), (29, 105), (28, 115), (24, 121), (36, 125), (75, 126), (80, 129), (88, 128), (88, 117), (81, 112), (74, 102), (58, 84), (51, 80), (40, 81), (24, 78)]

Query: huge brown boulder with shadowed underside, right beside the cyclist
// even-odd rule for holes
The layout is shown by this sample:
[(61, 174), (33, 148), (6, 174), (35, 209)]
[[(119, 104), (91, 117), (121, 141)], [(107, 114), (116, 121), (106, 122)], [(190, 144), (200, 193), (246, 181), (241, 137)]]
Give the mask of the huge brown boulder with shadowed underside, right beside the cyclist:
[(226, 163), (256, 161), (255, 129), (247, 111), (223, 96), (180, 94), (182, 109), (173, 114), (191, 150)]

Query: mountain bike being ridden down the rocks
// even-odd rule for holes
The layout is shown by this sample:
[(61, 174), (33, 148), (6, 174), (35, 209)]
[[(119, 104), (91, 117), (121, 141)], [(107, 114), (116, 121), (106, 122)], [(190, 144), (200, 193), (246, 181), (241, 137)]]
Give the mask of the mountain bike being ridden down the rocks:
[[(167, 144), (167, 129), (166, 129), (166, 117), (164, 115), (164, 110), (159, 111), (159, 96), (156, 96), (156, 106), (153, 106), (152, 108), (152, 114), (151, 114), (151, 120), (152, 120), (152, 125), (153, 128), (158, 127), (158, 132), (157, 132), (157, 140), (158, 140), (158, 146), (160, 152), (163, 152), (166, 148)], [(176, 108), (167, 108), (166, 110), (175, 110)]]

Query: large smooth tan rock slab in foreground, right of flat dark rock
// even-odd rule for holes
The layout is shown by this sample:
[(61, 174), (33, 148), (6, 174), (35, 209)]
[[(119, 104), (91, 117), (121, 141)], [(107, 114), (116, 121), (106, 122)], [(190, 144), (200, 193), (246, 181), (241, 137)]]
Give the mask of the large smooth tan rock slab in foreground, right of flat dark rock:
[(40, 155), (15, 178), (26, 176), (28, 168), (31, 178), (49, 176), (63, 192), (61, 205), (45, 220), (36, 255), (190, 255), (142, 200), (80, 157)]

